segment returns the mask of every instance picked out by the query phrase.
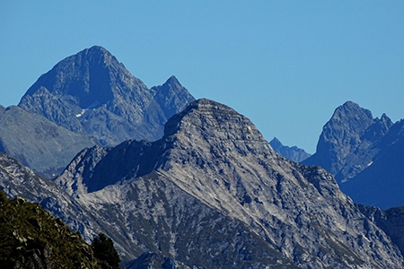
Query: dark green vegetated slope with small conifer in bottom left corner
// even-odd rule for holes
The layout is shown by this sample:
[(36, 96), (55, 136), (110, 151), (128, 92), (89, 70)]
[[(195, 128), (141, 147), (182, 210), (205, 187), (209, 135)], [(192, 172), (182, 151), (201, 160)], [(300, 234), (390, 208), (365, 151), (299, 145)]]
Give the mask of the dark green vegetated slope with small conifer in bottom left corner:
[(89, 245), (40, 204), (7, 200), (1, 190), (0, 235), (0, 268), (119, 268), (118, 253), (104, 234)]

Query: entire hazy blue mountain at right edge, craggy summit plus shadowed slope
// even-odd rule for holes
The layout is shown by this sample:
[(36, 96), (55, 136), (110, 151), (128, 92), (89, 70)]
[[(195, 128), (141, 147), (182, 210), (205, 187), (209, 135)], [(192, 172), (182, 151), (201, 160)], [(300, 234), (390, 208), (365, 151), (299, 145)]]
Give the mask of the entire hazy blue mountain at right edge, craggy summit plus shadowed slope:
[(356, 203), (382, 209), (404, 204), (404, 121), (347, 102), (324, 126), (317, 152), (303, 164), (320, 165)]

